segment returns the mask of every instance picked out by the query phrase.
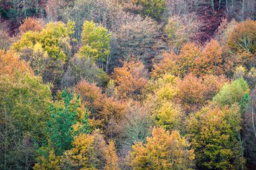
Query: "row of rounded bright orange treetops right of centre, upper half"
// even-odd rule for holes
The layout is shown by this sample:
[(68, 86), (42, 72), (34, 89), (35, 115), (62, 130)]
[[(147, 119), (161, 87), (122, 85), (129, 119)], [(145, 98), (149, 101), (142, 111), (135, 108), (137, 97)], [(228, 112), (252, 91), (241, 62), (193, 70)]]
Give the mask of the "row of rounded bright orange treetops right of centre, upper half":
[(196, 44), (187, 43), (181, 48), (181, 54), (165, 52), (163, 59), (154, 65), (152, 77), (157, 78), (165, 73), (185, 77), (188, 73), (195, 75), (224, 73), (222, 47), (216, 40), (211, 40), (200, 50)]

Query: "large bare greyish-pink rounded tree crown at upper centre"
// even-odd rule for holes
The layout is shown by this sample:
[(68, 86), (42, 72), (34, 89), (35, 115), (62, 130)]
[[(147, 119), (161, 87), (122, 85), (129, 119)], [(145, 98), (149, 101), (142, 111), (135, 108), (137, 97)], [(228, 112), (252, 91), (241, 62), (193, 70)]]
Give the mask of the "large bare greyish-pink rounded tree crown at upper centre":
[(160, 26), (149, 17), (144, 19), (139, 15), (127, 15), (127, 21), (121, 22), (118, 28), (113, 34), (117, 40), (117, 50), (114, 52), (115, 55), (122, 55), (126, 60), (136, 58), (150, 68), (151, 59), (166, 48), (161, 40)]

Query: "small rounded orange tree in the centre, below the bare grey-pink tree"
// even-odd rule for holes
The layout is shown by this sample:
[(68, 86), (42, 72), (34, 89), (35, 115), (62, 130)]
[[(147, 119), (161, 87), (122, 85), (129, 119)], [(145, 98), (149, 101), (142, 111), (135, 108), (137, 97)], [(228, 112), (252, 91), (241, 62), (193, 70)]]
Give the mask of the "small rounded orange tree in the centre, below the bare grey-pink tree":
[(113, 73), (117, 93), (121, 99), (139, 99), (141, 91), (148, 83), (148, 72), (141, 62), (124, 62), (123, 67)]

